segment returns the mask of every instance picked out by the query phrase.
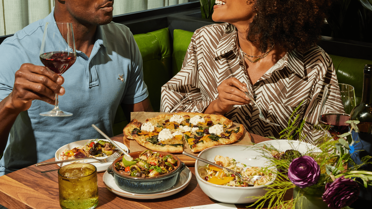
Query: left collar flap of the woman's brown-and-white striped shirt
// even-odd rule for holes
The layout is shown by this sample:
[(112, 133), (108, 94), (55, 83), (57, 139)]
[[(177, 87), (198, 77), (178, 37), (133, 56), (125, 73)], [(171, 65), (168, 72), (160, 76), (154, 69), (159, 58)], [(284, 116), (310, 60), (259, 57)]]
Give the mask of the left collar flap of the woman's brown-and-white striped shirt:
[(235, 29), (235, 26), (228, 24), (225, 32), (218, 42), (214, 56), (219, 57), (223, 54), (227, 54), (230, 51), (233, 51), (236, 55), (238, 55), (237, 37), (237, 30)]

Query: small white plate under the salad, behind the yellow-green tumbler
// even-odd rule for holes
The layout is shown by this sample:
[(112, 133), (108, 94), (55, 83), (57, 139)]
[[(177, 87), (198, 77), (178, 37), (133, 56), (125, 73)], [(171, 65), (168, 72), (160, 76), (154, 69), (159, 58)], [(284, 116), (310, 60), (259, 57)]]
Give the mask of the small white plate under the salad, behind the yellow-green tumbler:
[[(77, 142), (71, 142), (70, 144), (66, 144), (64, 146), (62, 146), (61, 148), (59, 148), (56, 152), (55, 152), (55, 155), (54, 155), (54, 158), (55, 158), (55, 161), (60, 161), (58, 159), (58, 157), (62, 154), (62, 152), (67, 149), (67, 150), (70, 150), (70, 149), (73, 149), (75, 147), (81, 147), (85, 144), (88, 144), (90, 141), (92, 140), (95, 140), (95, 139), (86, 139), (86, 140), (81, 140), (81, 141), (77, 141)], [(103, 141), (109, 141), (107, 139), (98, 139), (98, 140), (103, 140)], [(115, 143), (117, 145), (119, 145), (119, 147), (121, 147), (122, 149), (124, 149), (125, 151), (128, 152), (128, 147), (126, 147), (123, 143), (120, 143), (120, 142), (117, 142), (115, 141)], [(104, 159), (106, 157), (97, 157), (97, 159)], [(105, 171), (107, 170), (107, 168), (112, 164), (112, 162), (109, 162), (109, 163), (100, 163), (96, 160), (90, 160), (90, 159), (86, 159), (86, 160), (80, 160), (80, 161), (73, 161), (74, 163), (76, 162), (79, 162), (79, 163), (90, 163), (94, 166), (97, 167), (97, 172), (102, 172), (102, 171)], [(60, 163), (60, 164), (57, 164), (59, 165), (60, 167), (62, 167), (63, 165), (68, 165), (68, 164), (71, 164), (70, 162), (65, 162), (65, 163)]]

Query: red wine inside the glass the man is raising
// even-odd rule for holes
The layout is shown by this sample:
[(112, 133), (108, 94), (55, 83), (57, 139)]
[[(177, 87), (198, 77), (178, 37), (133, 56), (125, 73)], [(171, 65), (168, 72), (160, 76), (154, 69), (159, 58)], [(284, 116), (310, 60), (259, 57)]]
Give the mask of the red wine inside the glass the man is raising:
[(74, 64), (76, 55), (69, 52), (47, 52), (40, 55), (40, 60), (54, 73), (61, 75)]

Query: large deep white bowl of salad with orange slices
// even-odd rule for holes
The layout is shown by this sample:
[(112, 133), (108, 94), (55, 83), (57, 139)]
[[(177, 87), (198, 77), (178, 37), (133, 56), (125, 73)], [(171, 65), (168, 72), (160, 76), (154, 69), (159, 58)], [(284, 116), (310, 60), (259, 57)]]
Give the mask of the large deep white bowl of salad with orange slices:
[[(203, 150), (198, 155), (234, 171), (239, 171), (246, 181), (227, 170), (195, 162), (195, 176), (203, 192), (219, 202), (243, 204), (255, 202), (251, 196), (263, 196), (265, 188), (275, 180), (275, 167), (270, 167), (272, 157), (265, 149), (249, 145), (222, 145)], [(216, 158), (217, 156), (217, 158)], [(217, 161), (215, 161), (215, 159)], [(255, 180), (260, 176), (258, 180)], [(251, 180), (251, 181), (249, 181)], [(254, 185), (254, 186), (252, 186)], [(247, 198), (248, 197), (248, 198)]]

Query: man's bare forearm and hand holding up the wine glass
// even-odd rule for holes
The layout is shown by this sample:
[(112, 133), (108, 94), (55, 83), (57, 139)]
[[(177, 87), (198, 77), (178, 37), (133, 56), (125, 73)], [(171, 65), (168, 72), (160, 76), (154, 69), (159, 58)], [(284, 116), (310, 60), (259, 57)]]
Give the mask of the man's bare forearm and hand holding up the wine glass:
[(0, 102), (0, 153), (19, 113), (28, 110), (36, 99), (54, 105), (55, 94), (65, 93), (63, 82), (63, 77), (47, 67), (29, 63), (20, 67), (15, 73), (12, 92)]

